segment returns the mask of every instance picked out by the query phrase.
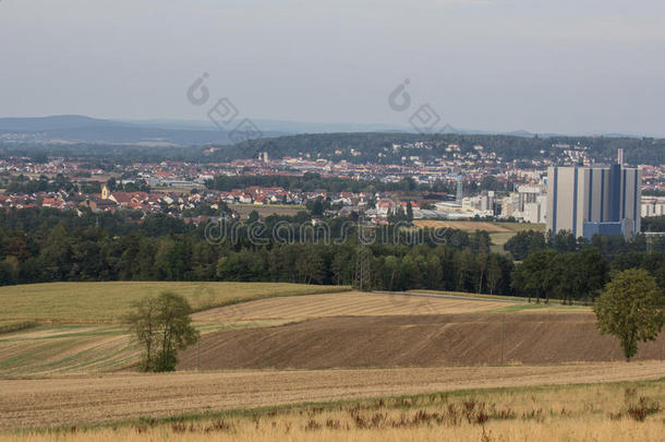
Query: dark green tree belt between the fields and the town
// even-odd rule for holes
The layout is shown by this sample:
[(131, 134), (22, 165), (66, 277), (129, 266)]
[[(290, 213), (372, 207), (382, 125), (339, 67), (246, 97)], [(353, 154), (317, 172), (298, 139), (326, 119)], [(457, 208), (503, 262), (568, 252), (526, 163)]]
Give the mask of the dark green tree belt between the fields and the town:
[[(0, 284), (62, 280), (238, 280), (358, 285), (376, 290), (440, 289), (516, 295), (536, 300), (592, 301), (614, 272), (642, 268), (665, 287), (665, 251), (645, 252), (639, 239), (598, 237), (571, 241), (521, 234), (510, 253), (496, 253), (487, 232), (426, 230), (376, 232), (371, 243), (332, 219), (328, 240), (309, 222), (270, 216), (261, 230), (232, 222), (234, 236), (210, 241), (206, 225), (165, 215), (22, 210), (0, 213)], [(276, 226), (292, 224), (289, 241)], [(352, 225), (352, 224), (351, 224)], [(305, 226), (309, 224), (305, 223)], [(255, 226), (254, 226), (255, 227)], [(352, 229), (351, 229), (352, 230)], [(343, 234), (347, 234), (344, 236)], [(380, 235), (378, 235), (380, 234)], [(254, 235), (254, 236), (252, 236)], [(342, 240), (335, 240), (342, 239)]]

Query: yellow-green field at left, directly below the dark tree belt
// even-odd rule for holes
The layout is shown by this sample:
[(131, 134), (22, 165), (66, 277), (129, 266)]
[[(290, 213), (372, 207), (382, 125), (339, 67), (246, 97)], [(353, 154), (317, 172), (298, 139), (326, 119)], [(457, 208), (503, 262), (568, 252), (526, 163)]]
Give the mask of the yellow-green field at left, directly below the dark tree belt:
[(121, 322), (134, 300), (164, 290), (189, 299), (195, 310), (277, 296), (348, 290), (286, 283), (49, 283), (0, 287), (0, 320), (60, 323)]

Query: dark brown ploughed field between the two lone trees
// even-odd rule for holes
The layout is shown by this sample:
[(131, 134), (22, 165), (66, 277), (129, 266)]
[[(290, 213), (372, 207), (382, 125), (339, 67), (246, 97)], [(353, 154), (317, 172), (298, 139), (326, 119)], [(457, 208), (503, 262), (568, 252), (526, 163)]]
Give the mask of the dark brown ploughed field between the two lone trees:
[[(637, 359), (665, 359), (665, 335), (641, 344)], [(182, 351), (180, 360), (179, 369), (195, 368), (196, 347)], [(205, 370), (612, 360), (622, 360), (621, 349), (614, 337), (596, 331), (590, 313), (323, 318), (210, 333), (201, 339)]]

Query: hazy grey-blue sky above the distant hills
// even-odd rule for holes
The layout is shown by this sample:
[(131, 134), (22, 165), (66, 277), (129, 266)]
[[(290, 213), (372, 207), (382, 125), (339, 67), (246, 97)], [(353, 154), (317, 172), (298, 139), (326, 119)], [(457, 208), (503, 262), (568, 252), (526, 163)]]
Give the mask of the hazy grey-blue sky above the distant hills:
[[(413, 4), (415, 3), (415, 4)], [(663, 0), (0, 0), (0, 117), (665, 133)], [(411, 108), (388, 96), (404, 79)]]

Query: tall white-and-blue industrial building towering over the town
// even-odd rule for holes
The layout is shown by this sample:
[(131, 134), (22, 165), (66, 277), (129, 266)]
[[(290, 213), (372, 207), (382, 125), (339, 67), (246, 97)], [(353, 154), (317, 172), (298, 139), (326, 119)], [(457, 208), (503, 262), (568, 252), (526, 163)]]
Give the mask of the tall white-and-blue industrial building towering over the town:
[(640, 231), (641, 172), (617, 164), (605, 167), (549, 167), (547, 229), (575, 237)]

